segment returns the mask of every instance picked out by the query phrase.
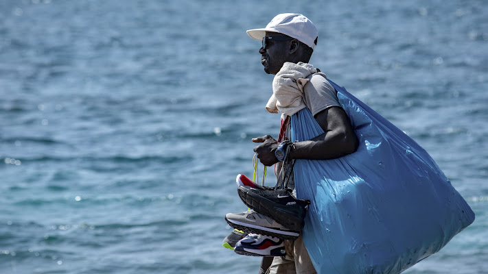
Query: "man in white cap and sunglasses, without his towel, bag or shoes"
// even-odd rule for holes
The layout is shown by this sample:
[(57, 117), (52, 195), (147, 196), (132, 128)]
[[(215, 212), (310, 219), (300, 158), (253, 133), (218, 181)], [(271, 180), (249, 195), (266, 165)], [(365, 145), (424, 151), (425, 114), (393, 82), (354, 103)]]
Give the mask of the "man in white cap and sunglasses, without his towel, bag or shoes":
[[(301, 14), (278, 14), (264, 29), (251, 29), (247, 33), (255, 40), (262, 40), (259, 53), (264, 71), (273, 75), (277, 75), (286, 62), (308, 63), (318, 38), (314, 24)], [(288, 158), (327, 160), (353, 153), (358, 139), (338, 103), (336, 91), (323, 75), (312, 74), (307, 79), (303, 101), (325, 133), (312, 140), (294, 142)], [(287, 117), (282, 116), (279, 141), (269, 135), (253, 138), (253, 142), (261, 143), (254, 151), (266, 166), (280, 162), (275, 153), (280, 142), (290, 140)], [(280, 169), (281, 164), (277, 168)], [(287, 256), (275, 257), (267, 273), (316, 273), (301, 236), (293, 243), (288, 242), (286, 248)]]

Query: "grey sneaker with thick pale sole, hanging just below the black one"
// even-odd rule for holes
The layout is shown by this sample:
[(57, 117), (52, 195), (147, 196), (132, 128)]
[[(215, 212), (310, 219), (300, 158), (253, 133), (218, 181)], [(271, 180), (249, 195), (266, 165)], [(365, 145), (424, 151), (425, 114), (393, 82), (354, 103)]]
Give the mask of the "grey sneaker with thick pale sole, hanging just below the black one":
[(259, 214), (254, 210), (242, 213), (227, 213), (225, 221), (235, 229), (244, 230), (245, 233), (255, 233), (273, 236), (285, 240), (294, 240), (300, 236), (299, 231), (293, 231), (268, 216)]

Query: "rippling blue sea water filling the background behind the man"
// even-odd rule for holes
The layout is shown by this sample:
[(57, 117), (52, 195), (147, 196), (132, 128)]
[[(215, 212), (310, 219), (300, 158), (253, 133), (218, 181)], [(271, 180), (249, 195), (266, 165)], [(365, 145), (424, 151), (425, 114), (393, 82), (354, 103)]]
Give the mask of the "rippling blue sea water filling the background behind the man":
[(245, 30), (281, 12), (476, 213), (405, 273), (488, 273), (482, 0), (0, 1), (0, 273), (257, 273), (221, 243), (251, 138), (279, 129)]

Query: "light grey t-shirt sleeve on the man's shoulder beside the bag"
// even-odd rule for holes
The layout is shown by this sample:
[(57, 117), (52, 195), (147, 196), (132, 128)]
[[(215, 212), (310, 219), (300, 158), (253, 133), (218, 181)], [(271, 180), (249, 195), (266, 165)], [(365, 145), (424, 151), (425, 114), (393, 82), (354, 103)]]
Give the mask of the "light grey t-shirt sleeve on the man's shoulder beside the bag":
[(314, 74), (303, 88), (303, 101), (312, 115), (331, 107), (340, 107), (337, 92), (322, 75)]

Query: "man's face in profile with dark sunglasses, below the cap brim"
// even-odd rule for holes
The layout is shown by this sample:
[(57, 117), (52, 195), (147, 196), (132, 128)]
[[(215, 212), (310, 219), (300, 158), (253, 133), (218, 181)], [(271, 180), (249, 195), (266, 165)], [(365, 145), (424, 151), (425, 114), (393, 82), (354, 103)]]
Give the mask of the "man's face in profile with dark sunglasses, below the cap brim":
[[(272, 38), (287, 38), (284, 34), (276, 32), (266, 32), (266, 37)], [(290, 40), (266, 40), (266, 49), (261, 47), (261, 64), (264, 66), (264, 71), (268, 74), (277, 74), (281, 66), (286, 62), (286, 53), (290, 48)]]

